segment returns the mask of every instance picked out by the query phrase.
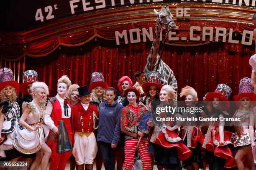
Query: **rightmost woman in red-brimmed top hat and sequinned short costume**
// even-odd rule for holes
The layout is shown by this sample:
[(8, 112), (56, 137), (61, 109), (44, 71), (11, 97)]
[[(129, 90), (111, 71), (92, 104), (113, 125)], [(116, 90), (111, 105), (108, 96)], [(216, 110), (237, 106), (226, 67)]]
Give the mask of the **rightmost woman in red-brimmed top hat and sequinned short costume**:
[[(239, 106), (233, 117), (240, 118), (241, 121), (235, 122), (235, 130), (231, 136), (231, 141), (238, 151), (235, 156), (238, 170), (243, 170), (243, 158), (246, 158), (248, 167), (250, 170), (255, 169), (253, 160), (253, 150), (256, 148), (256, 135), (253, 130), (255, 112), (253, 107), (255, 106), (256, 95), (254, 94), (254, 87), (252, 80), (248, 77), (241, 79), (239, 85), (238, 95), (234, 96), (236, 104)], [(255, 151), (255, 150), (254, 150)]]

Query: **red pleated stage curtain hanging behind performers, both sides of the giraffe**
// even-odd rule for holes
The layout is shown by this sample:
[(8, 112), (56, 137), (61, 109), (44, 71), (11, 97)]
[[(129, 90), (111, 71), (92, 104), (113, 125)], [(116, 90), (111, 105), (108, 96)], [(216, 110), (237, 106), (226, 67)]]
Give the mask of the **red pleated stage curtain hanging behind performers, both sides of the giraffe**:
[[(115, 88), (123, 75), (135, 82), (134, 73), (144, 69), (151, 42), (116, 46), (113, 40), (97, 39), (79, 47), (58, 47), (46, 57), (27, 57), (26, 70), (36, 70), (38, 80), (49, 85), (52, 96), (58, 78), (65, 74), (80, 86), (90, 84), (94, 71), (102, 72), (108, 85)], [(179, 92), (185, 85), (192, 86), (202, 100), (206, 92), (225, 83), (233, 90), (233, 100), (239, 80), (251, 77), (248, 61), (253, 54), (254, 46), (211, 42), (194, 47), (166, 45), (163, 60), (174, 71)]]

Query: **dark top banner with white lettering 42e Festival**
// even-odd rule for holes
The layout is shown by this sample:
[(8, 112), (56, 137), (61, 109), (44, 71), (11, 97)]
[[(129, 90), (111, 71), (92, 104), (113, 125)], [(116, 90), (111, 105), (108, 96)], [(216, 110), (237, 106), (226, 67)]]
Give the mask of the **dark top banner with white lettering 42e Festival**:
[[(116, 7), (159, 3), (186, 5), (186, 2), (194, 4), (204, 3), (206, 9), (207, 5), (233, 5), (234, 7), (250, 8), (255, 7), (256, 0), (13, 0), (13, 3), (16, 5), (8, 18), (9, 23), (1, 29), (7, 30), (9, 26), (9, 30), (26, 30), (56, 20)], [(9, 12), (6, 10), (6, 13)]]

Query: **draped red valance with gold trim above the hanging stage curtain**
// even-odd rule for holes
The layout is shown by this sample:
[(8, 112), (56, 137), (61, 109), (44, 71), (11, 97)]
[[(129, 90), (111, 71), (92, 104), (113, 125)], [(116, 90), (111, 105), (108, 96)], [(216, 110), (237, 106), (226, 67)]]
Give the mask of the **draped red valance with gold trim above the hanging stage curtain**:
[[(113, 25), (113, 26), (106, 26), (106, 27), (99, 27), (95, 28), (94, 30), (87, 30), (87, 31), (79, 31), (75, 33), (67, 33), (63, 36), (59, 37), (50, 37), (50, 39), (44, 37), (36, 37), (38, 35), (30, 35), (31, 32), (36, 30), (31, 30), (27, 32), (9, 32), (5, 33), (5, 36), (1, 37), (2, 45), (0, 45), (0, 57), (5, 58), (6, 60), (18, 60), (23, 56), (30, 56), (30, 57), (41, 57), (47, 56), (54, 50), (56, 50), (60, 45), (63, 46), (80, 46), (90, 40), (94, 39), (95, 37), (100, 37), (105, 40), (115, 40), (115, 31), (122, 32), (123, 30), (128, 31), (133, 28), (146, 28), (149, 27), (153, 28), (153, 32), (155, 30), (156, 21), (150, 22), (135, 22), (135, 23), (127, 23), (123, 25)], [(215, 38), (215, 28), (222, 27), (227, 29), (227, 37), (229, 34), (229, 30), (232, 28), (233, 32), (240, 32), (242, 33), (243, 30), (250, 30), (254, 29), (254, 26), (248, 24), (241, 24), (241, 23), (229, 23), (223, 21), (201, 21), (201, 20), (178, 20), (177, 26), (179, 29), (177, 31), (177, 37), (187, 37), (189, 40), (189, 30), (191, 26), (200, 26), (201, 31), (198, 32), (197, 36), (202, 37), (202, 27), (213, 27), (213, 37)], [(54, 34), (54, 30), (52, 30), (51, 34)], [(238, 35), (240, 35), (238, 33)], [(46, 36), (46, 35), (45, 35)], [(49, 35), (47, 35), (49, 36)], [(22, 38), (20, 38), (22, 37)], [(24, 39), (24, 40), (23, 40)], [(206, 37), (206, 41), (169, 41), (172, 45), (177, 46), (190, 46), (190, 45), (201, 45), (207, 43), (209, 37)], [(21, 41), (23, 40), (23, 41)], [(241, 42), (241, 38), (238, 39)], [(121, 43), (124, 40), (120, 40)], [(168, 41), (167, 41), (168, 42)], [(228, 39), (226, 40), (228, 42)], [(116, 44), (115, 41), (111, 41), (111, 43)], [(141, 40), (141, 43), (142, 40)], [(24, 45), (26, 44), (26, 45)], [(175, 47), (174, 47), (175, 48)], [(201, 48), (201, 47), (198, 47)]]

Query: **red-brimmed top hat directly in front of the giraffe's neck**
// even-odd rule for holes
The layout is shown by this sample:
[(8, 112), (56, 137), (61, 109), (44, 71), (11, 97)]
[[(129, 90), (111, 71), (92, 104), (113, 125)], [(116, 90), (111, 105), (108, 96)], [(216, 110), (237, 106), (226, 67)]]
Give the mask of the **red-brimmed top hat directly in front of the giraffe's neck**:
[(161, 85), (161, 74), (156, 71), (151, 71), (148, 73), (147, 82), (142, 85), (142, 89), (144, 92), (147, 91), (147, 88), (151, 85), (156, 86), (159, 90), (163, 87)]

